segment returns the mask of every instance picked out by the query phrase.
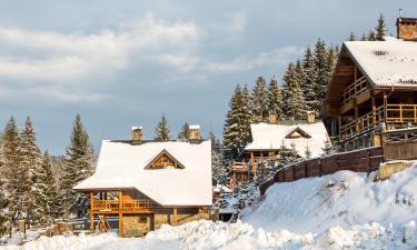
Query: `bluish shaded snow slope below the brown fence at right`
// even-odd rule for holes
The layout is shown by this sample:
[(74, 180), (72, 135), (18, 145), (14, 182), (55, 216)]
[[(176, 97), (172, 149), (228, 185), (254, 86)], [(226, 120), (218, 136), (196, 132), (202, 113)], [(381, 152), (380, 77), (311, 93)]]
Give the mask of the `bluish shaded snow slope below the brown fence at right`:
[[(415, 166), (416, 167), (416, 166)], [(267, 230), (322, 232), (335, 226), (376, 221), (406, 223), (417, 218), (417, 168), (380, 182), (366, 173), (339, 171), (321, 178), (277, 183), (244, 220)]]

